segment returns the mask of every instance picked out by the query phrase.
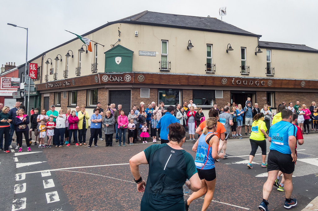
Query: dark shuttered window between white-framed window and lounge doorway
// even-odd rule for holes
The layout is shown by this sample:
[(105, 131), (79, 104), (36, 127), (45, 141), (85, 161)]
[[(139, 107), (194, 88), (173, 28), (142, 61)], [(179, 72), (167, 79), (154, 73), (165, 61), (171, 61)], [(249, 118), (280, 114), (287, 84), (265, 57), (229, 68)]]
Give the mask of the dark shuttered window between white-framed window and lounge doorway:
[(196, 105), (213, 105), (215, 100), (215, 90), (194, 89), (193, 103)]

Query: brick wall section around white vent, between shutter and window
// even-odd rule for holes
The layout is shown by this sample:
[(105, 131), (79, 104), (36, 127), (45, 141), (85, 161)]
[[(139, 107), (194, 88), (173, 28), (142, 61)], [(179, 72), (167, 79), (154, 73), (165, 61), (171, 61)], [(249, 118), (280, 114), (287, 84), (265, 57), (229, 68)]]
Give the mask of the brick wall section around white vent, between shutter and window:
[(140, 102), (144, 102), (145, 107), (147, 107), (147, 105), (152, 101), (158, 105), (158, 89), (150, 88), (149, 98), (140, 97), (140, 88), (131, 89), (131, 106), (136, 105), (138, 108), (140, 106)]

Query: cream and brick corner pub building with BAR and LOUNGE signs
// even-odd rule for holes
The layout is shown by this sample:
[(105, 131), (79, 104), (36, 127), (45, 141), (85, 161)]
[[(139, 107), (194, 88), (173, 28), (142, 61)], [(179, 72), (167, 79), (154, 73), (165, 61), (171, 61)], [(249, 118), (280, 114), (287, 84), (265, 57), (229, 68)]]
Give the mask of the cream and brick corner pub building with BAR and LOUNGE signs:
[(272, 108), (318, 99), (318, 50), (260, 41), (217, 18), (144, 11), (82, 36), (99, 43), (93, 52), (76, 37), (29, 61), (41, 67), (41, 109), (85, 105), (91, 115), (97, 102), (115, 103), (128, 115), (141, 101), (193, 99), (207, 114), (214, 103), (244, 106), (247, 97)]

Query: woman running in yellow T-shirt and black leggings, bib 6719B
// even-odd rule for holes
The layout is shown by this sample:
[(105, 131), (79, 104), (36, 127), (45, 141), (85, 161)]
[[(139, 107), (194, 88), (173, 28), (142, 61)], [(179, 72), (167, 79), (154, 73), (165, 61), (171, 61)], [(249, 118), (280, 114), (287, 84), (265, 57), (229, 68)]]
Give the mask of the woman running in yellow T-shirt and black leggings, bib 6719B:
[[(268, 139), (268, 135), (266, 134), (267, 128), (265, 125), (264, 120), (264, 113), (258, 113), (253, 117), (253, 123), (252, 123), (252, 133), (250, 136), (250, 143), (252, 147), (252, 151), (250, 153), (250, 159), (249, 163), (247, 164), (247, 167), (252, 167), (252, 160), (255, 156), (255, 153), (258, 149), (258, 147), (262, 150), (262, 167), (266, 168), (266, 139)], [(264, 138), (265, 136), (265, 138)]]

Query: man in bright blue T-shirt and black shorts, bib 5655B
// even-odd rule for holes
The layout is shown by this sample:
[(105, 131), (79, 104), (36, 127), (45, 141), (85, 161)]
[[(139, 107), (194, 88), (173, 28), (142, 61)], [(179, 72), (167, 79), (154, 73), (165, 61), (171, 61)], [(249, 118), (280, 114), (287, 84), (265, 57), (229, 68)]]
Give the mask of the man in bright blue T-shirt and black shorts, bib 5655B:
[(271, 146), (267, 159), (268, 177), (263, 186), (263, 201), (259, 205), (259, 209), (263, 211), (268, 211), (267, 206), (269, 203), (267, 200), (279, 170), (283, 172), (285, 178), (284, 207), (289, 209), (297, 204), (296, 199), (290, 198), (293, 191), (292, 176), (297, 160), (295, 154), (297, 128), (291, 124), (293, 120), (293, 112), (291, 110), (282, 110), (281, 118), (282, 120), (269, 130), (268, 141), (271, 142)]

